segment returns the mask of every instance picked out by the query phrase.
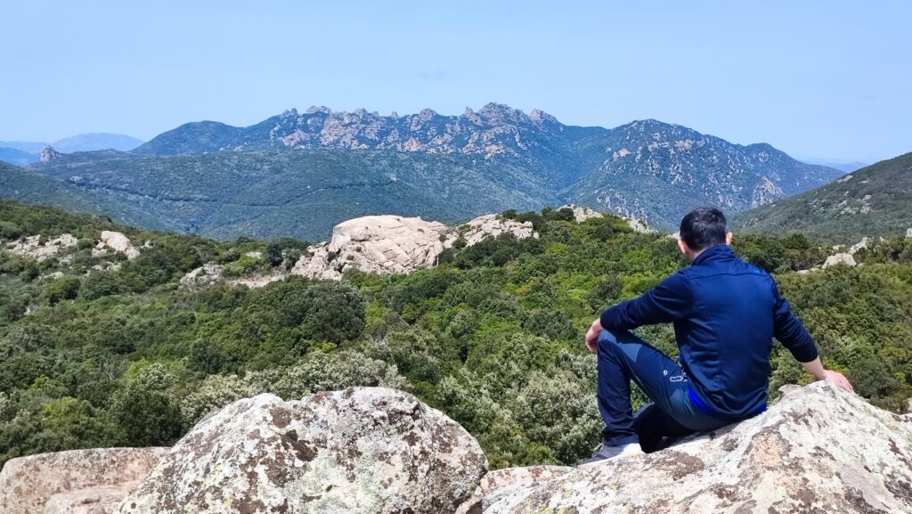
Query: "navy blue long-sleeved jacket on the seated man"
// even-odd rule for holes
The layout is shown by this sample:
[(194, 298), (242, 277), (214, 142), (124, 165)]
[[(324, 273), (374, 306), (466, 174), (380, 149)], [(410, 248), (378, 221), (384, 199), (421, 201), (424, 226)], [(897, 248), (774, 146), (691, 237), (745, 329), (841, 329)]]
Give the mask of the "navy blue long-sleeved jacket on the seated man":
[(772, 277), (726, 245), (703, 250), (656, 288), (606, 309), (601, 322), (606, 330), (674, 323), (691, 399), (725, 419), (765, 408), (773, 337), (800, 362), (817, 357)]

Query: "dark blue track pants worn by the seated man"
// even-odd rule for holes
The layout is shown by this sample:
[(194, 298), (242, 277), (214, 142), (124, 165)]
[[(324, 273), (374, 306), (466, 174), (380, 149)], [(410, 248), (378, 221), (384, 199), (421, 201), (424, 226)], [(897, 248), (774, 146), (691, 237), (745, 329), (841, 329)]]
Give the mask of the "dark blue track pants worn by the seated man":
[[(630, 381), (652, 400), (632, 413)], [(640, 443), (654, 449), (664, 436), (714, 430), (722, 421), (700, 410), (688, 394), (687, 373), (661, 351), (626, 330), (598, 336), (598, 410), (608, 446)]]

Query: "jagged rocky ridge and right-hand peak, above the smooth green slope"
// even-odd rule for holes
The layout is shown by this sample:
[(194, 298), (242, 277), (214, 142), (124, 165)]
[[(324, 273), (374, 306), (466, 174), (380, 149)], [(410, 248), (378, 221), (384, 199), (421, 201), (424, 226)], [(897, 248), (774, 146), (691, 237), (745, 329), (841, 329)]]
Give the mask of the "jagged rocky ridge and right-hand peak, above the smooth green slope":
[(200, 121), (164, 132), (133, 153), (318, 148), (461, 155), (490, 163), (489, 173), (495, 174), (524, 169), (562, 201), (637, 216), (661, 228), (675, 226), (694, 205), (740, 211), (842, 174), (795, 161), (768, 144), (741, 146), (660, 121), (575, 127), (541, 110), (525, 114), (493, 103), (459, 116), (429, 109), (380, 116), (312, 107), (286, 110), (249, 127)]

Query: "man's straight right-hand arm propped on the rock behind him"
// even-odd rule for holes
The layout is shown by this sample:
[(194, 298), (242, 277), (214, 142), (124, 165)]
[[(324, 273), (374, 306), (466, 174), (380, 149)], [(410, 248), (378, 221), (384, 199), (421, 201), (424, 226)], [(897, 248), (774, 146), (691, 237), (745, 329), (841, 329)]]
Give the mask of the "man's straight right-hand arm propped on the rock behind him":
[(817, 345), (814, 344), (811, 334), (804, 328), (801, 320), (792, 313), (789, 301), (779, 295), (779, 288), (776, 288), (775, 282), (772, 284), (772, 293), (775, 300), (772, 312), (773, 337), (792, 352), (795, 360), (802, 363), (804, 369), (814, 376), (814, 380), (827, 380), (846, 391), (852, 391), (852, 383), (849, 383), (842, 373), (824, 369), (823, 362), (820, 362), (820, 354), (817, 352)]

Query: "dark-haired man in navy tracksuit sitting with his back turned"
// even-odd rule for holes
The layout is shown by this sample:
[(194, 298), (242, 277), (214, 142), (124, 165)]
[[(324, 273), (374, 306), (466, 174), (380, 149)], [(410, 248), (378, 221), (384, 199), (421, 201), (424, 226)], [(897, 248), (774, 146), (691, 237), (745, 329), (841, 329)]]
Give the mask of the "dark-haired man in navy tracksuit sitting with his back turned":
[[(720, 210), (684, 216), (678, 247), (690, 266), (636, 299), (602, 312), (586, 332), (598, 354), (602, 446), (586, 461), (653, 451), (665, 436), (714, 430), (766, 409), (772, 338), (816, 380), (851, 391), (842, 374), (824, 370), (817, 348), (789, 302), (762, 269), (731, 251)], [(674, 323), (680, 356), (672, 361), (629, 330)], [(630, 380), (652, 400), (631, 413)]]

